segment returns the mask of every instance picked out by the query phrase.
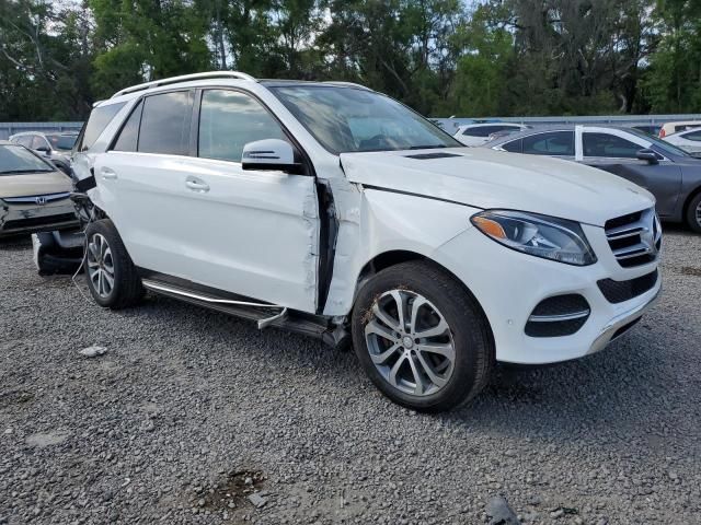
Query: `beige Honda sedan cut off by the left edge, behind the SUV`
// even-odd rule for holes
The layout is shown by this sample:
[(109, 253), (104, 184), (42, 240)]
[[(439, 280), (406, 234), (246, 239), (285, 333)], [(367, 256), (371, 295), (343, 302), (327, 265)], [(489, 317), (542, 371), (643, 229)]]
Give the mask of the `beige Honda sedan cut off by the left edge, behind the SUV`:
[(72, 180), (23, 145), (0, 141), (0, 236), (78, 225)]

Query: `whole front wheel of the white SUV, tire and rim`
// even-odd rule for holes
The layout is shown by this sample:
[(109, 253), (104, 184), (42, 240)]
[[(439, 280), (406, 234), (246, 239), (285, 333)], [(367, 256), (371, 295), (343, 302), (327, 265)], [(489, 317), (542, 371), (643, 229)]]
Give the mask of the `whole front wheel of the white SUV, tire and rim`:
[(376, 386), (420, 411), (469, 401), (494, 366), (490, 328), (475, 300), (425, 261), (390, 267), (366, 283), (353, 312), (353, 341)]

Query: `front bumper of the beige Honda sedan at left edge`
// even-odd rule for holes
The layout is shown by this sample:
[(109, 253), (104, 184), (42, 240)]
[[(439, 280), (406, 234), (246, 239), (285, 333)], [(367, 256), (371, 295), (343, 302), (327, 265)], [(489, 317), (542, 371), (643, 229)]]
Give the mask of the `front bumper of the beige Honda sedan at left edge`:
[(69, 198), (44, 206), (0, 200), (0, 236), (65, 230), (78, 225), (76, 207)]

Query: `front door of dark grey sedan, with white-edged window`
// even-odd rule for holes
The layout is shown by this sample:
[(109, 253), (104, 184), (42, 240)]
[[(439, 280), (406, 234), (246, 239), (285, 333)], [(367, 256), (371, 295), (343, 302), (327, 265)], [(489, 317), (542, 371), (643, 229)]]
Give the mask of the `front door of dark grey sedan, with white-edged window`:
[(582, 162), (627, 178), (647, 189), (657, 200), (657, 212), (671, 215), (681, 187), (681, 170), (659, 155), (657, 164), (637, 159), (651, 142), (623, 130), (585, 128), (582, 130)]

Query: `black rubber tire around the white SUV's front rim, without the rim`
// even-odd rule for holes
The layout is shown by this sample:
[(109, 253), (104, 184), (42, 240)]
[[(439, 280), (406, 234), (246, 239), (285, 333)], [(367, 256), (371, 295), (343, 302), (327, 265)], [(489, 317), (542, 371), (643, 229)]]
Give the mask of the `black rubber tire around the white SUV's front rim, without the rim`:
[[(371, 319), (377, 319), (372, 316), (376, 302), (381, 301), (380, 298), (391, 290), (418, 294), (429, 301), (430, 306), (435, 306), (439, 311), (438, 315), (448, 324), (455, 348), (452, 373), (445, 385), (433, 394), (426, 389), (423, 395), (413, 395), (395, 387), (372, 362), (366, 326)], [(411, 303), (415, 299), (409, 301)], [(374, 276), (358, 293), (352, 324), (355, 351), (366, 373), (387, 397), (406, 408), (440, 412), (467, 404), (484, 388), (494, 368), (494, 342), (484, 313), (459, 281), (428, 261), (402, 262)], [(399, 341), (399, 336), (397, 340)], [(418, 339), (412, 345), (418, 345)], [(389, 341), (387, 346), (390, 346)], [(407, 349), (402, 346), (399, 352), (407, 352)], [(415, 365), (418, 358), (413, 357), (414, 352), (410, 353)], [(409, 361), (406, 364), (410, 364)], [(411, 370), (416, 369), (411, 366)]]

